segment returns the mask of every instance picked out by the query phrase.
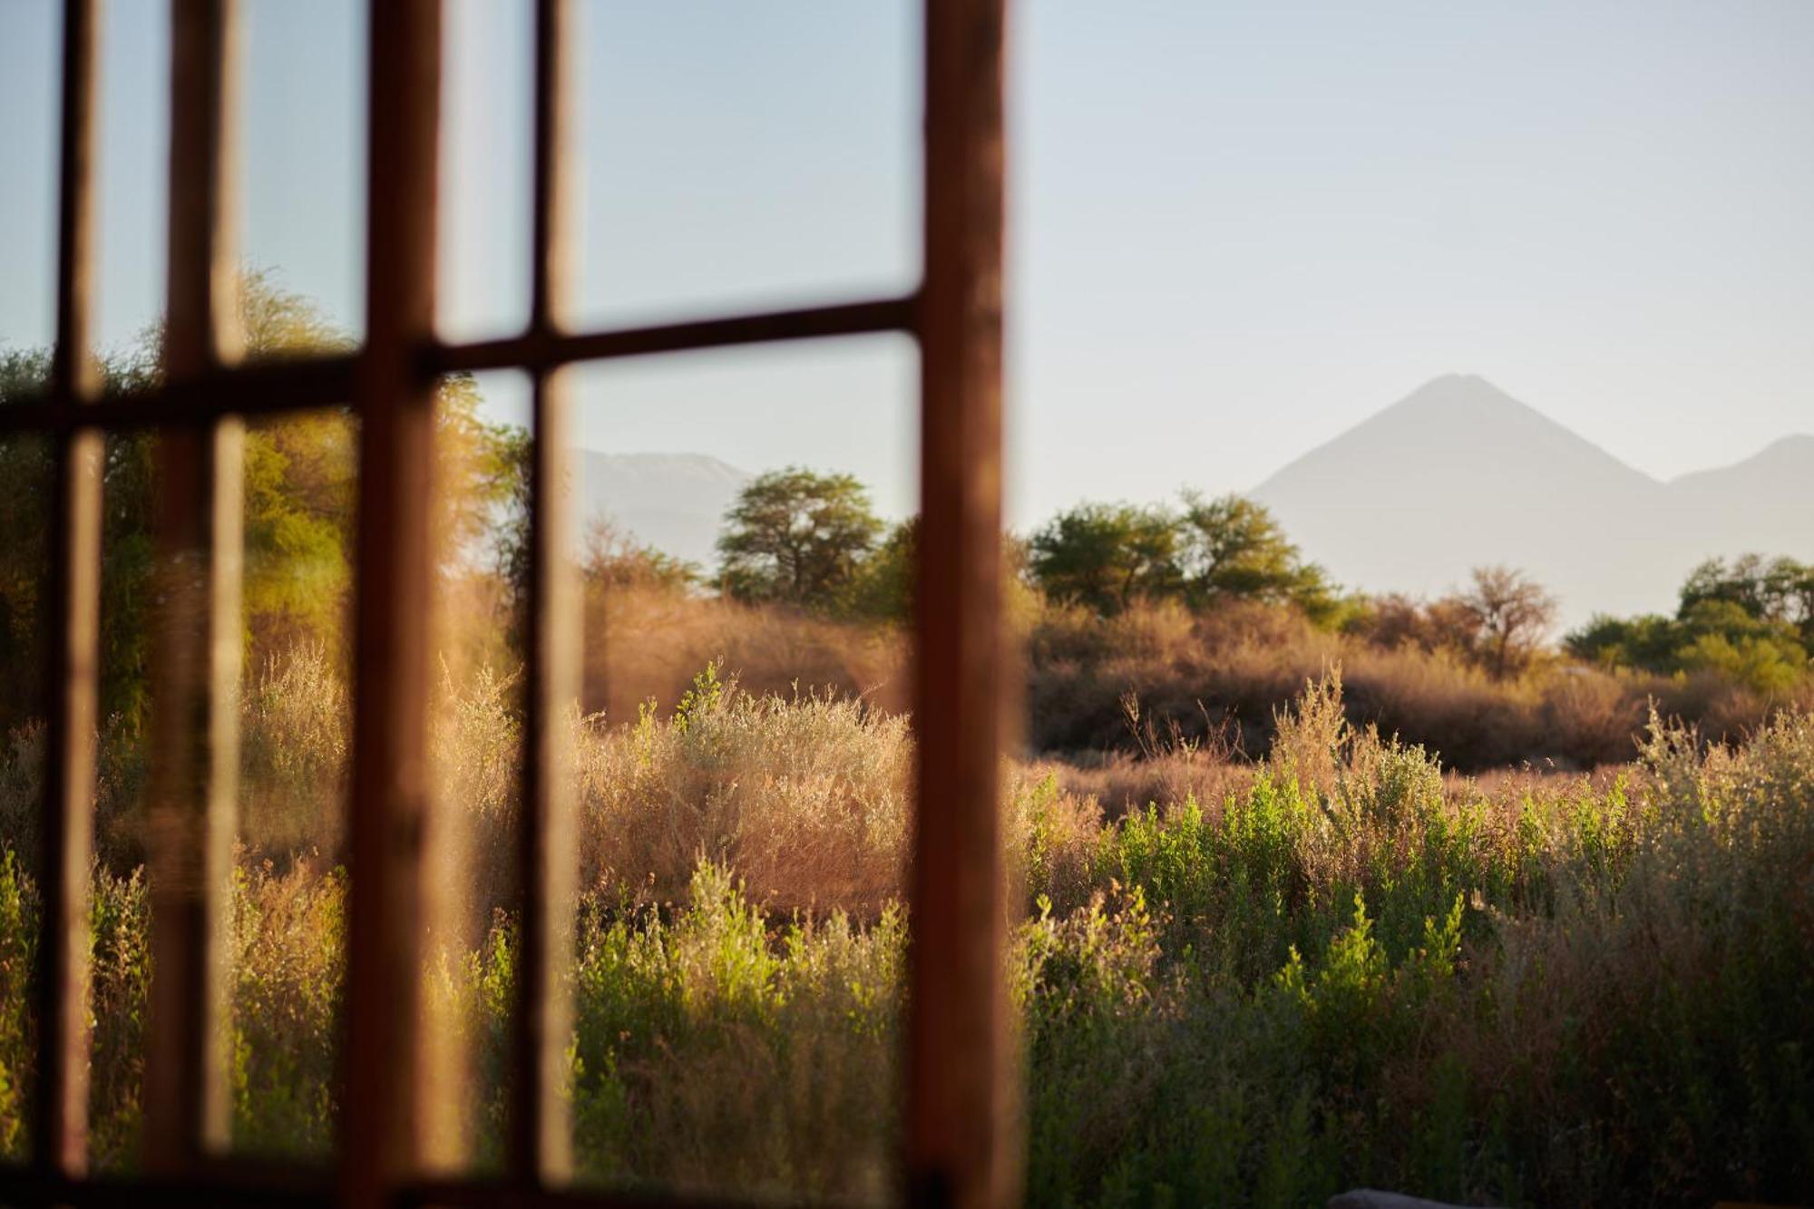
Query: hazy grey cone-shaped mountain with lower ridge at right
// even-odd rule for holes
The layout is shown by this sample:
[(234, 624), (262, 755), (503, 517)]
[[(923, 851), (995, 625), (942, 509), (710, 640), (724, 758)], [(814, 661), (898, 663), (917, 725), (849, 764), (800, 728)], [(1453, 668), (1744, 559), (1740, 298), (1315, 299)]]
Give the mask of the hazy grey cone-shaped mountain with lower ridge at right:
[(1475, 376), (1437, 378), (1253, 492), (1344, 585), (1440, 594), (1524, 568), (1589, 614), (1669, 610), (1705, 557), (1814, 557), (1814, 437), (1662, 483)]

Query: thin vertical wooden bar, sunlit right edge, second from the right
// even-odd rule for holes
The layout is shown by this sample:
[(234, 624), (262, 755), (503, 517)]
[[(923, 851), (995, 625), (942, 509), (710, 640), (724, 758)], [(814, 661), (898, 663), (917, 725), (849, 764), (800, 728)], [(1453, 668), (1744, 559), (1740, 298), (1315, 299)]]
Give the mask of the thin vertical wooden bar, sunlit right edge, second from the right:
[[(568, 314), (571, 234), (568, 0), (535, 9), (535, 251), (530, 329), (561, 330)], [(568, 712), (579, 701), (579, 590), (573, 577), (573, 485), (562, 370), (535, 374), (530, 467), (530, 594), (522, 761), (522, 958), (512, 1018), (510, 1175), (524, 1187), (568, 1178), (566, 1044), (573, 1006), (573, 753)]]

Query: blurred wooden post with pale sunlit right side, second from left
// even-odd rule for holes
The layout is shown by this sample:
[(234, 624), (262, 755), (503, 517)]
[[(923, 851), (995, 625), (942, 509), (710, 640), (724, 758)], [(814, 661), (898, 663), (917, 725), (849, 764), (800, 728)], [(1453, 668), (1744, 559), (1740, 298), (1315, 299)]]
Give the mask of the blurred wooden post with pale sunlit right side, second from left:
[[(171, 9), (171, 234), (163, 369), (238, 356), (234, 0)], [(145, 1165), (180, 1173), (230, 1142), (227, 937), (239, 773), (238, 418), (158, 436), (151, 655), (152, 902)]]

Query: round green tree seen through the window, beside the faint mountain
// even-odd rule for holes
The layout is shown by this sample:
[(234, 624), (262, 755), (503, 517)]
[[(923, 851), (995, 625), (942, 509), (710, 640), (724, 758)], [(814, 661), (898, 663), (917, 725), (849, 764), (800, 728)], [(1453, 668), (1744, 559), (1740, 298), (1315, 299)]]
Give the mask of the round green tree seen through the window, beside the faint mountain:
[(834, 608), (880, 536), (854, 476), (771, 470), (724, 514), (718, 586), (740, 601)]

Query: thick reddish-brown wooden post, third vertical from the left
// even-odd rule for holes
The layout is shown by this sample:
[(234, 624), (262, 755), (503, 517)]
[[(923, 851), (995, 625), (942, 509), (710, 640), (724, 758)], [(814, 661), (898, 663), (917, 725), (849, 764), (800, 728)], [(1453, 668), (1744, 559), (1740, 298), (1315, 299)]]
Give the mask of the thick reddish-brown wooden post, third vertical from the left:
[(386, 1205), (426, 1140), (423, 879), (428, 811), (428, 601), (439, 0), (370, 4), (366, 349), (359, 363), (354, 759), (341, 1049), (341, 1202)]

